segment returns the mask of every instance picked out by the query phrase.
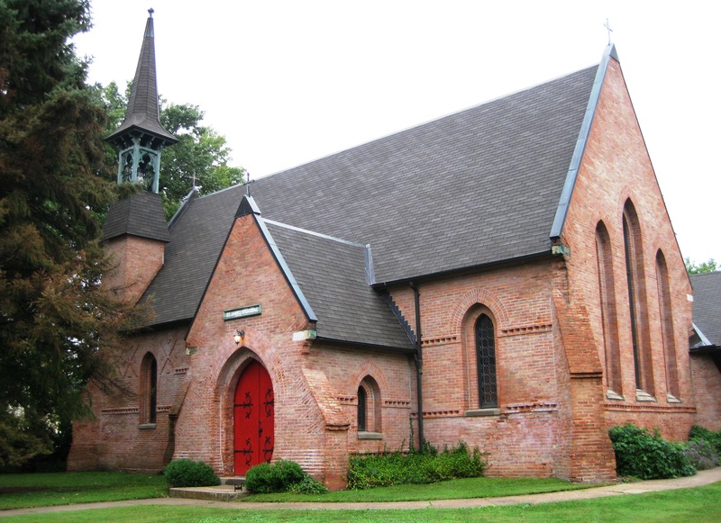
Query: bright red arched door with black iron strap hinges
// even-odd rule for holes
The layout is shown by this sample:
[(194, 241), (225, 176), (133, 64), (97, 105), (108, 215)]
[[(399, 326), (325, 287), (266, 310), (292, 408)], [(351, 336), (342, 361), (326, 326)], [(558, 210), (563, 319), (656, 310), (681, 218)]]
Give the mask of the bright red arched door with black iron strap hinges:
[(273, 383), (263, 365), (251, 362), (238, 380), (233, 407), (235, 474), (273, 457)]

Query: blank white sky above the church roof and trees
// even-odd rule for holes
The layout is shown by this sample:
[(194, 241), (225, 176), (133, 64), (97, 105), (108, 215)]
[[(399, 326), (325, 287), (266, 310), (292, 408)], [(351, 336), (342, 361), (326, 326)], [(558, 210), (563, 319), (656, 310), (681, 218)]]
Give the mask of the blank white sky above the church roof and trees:
[(92, 0), (89, 79), (132, 79), (155, 10), (160, 95), (251, 178), (597, 64), (608, 19), (681, 252), (721, 261), (721, 4)]

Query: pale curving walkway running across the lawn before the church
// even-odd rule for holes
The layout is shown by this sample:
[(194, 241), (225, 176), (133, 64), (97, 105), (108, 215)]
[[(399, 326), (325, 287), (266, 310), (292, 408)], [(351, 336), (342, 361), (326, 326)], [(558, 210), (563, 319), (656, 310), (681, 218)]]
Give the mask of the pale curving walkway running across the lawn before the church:
[(186, 500), (181, 498), (155, 498), (151, 500), (127, 500), (102, 503), (82, 503), (56, 507), (39, 507), (37, 509), (14, 509), (0, 511), (0, 518), (21, 516), (24, 514), (44, 514), (49, 512), (68, 512), (70, 510), (111, 509), (137, 505), (185, 505), (195, 507), (215, 507), (218, 509), (262, 509), (262, 510), (366, 510), (366, 509), (465, 509), (514, 505), (516, 503), (550, 503), (553, 501), (591, 500), (607, 496), (625, 494), (642, 494), (644, 492), (670, 491), (687, 487), (698, 487), (721, 482), (721, 467), (700, 471), (689, 478), (672, 480), (651, 480), (647, 482), (618, 483), (606, 487), (597, 487), (581, 491), (550, 492), (547, 494), (529, 494), (525, 496), (507, 496), (504, 498), (471, 498), (469, 500), (435, 500), (435, 501), (396, 501), (378, 503), (252, 503)]

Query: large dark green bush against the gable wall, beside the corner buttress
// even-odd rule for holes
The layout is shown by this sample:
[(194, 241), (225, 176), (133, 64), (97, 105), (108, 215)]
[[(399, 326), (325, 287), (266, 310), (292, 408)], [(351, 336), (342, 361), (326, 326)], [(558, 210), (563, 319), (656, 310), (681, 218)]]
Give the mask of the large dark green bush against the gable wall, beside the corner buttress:
[(684, 455), (684, 445), (667, 441), (658, 429), (653, 433), (633, 423), (608, 430), (616, 453), (616, 473), (642, 480), (692, 476), (696, 468)]

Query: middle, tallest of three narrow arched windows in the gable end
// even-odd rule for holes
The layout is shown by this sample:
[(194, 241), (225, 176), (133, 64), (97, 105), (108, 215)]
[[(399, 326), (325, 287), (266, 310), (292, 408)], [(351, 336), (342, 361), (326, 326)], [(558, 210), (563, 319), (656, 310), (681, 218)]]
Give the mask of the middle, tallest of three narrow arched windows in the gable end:
[(653, 395), (653, 359), (650, 354), (651, 339), (649, 338), (648, 327), (641, 225), (631, 200), (627, 200), (624, 206), (623, 226), (628, 310), (631, 320), (631, 342), (634, 348), (636, 389)]

